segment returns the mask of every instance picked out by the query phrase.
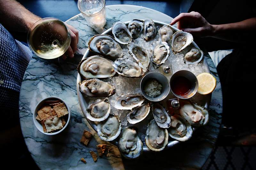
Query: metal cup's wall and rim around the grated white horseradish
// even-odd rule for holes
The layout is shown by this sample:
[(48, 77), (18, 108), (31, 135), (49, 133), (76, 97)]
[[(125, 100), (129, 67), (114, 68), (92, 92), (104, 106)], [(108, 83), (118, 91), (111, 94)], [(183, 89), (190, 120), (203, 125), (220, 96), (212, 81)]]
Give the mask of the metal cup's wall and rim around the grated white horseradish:
[[(162, 91), (161, 94), (156, 96), (156, 97), (148, 97), (146, 95), (146, 93), (144, 92), (144, 85), (147, 83), (147, 81), (149, 81), (150, 79), (155, 78), (163, 87), (162, 87)], [(140, 90), (143, 94), (143, 96), (150, 101), (161, 101), (164, 100), (169, 92), (170, 92), (170, 83), (169, 80), (161, 73), (159, 72), (150, 72), (148, 74), (146, 74), (140, 82)]]

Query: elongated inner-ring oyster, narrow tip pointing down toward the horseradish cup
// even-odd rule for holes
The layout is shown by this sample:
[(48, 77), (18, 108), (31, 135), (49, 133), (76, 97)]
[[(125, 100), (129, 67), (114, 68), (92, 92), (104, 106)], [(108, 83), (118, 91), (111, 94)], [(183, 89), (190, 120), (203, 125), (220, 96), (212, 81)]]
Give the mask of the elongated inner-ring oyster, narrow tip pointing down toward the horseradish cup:
[(139, 66), (143, 68), (144, 71), (148, 70), (150, 55), (147, 49), (142, 48), (135, 43), (130, 43), (128, 44), (128, 52), (139, 63)]

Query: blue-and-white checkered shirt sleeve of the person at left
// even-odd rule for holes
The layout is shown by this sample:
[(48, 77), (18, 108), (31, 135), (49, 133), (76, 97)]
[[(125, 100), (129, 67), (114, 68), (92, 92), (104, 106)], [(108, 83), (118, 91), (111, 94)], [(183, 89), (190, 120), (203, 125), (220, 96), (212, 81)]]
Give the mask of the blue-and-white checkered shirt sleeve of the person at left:
[(0, 24), (0, 87), (19, 92), (31, 57), (30, 49)]

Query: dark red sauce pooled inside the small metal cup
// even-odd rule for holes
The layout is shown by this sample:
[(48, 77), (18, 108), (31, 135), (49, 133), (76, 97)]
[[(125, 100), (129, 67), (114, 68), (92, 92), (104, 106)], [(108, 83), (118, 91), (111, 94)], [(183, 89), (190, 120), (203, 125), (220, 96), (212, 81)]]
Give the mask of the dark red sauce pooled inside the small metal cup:
[(191, 83), (188, 78), (176, 77), (171, 82), (172, 91), (180, 96), (185, 96), (191, 89)]

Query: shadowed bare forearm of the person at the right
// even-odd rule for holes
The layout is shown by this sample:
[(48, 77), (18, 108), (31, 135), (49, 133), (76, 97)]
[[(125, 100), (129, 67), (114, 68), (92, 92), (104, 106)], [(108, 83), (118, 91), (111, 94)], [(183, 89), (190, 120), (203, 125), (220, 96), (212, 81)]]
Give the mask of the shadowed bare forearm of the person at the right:
[(222, 40), (245, 42), (248, 38), (255, 38), (256, 18), (246, 19), (241, 22), (212, 25), (214, 27), (212, 37)]

